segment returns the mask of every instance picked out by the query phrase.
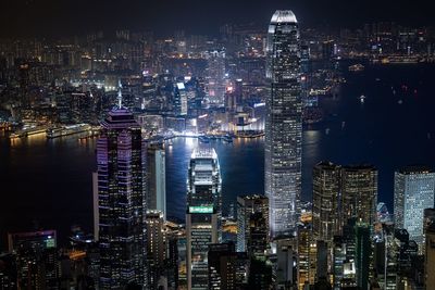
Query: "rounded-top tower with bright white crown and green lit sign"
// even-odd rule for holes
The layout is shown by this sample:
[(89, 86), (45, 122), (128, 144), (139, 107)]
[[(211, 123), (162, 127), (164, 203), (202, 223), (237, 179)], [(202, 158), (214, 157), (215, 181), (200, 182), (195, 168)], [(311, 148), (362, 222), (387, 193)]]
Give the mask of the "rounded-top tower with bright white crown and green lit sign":
[(221, 241), (222, 179), (212, 148), (195, 149), (188, 169), (186, 250), (187, 288), (208, 289), (209, 244)]

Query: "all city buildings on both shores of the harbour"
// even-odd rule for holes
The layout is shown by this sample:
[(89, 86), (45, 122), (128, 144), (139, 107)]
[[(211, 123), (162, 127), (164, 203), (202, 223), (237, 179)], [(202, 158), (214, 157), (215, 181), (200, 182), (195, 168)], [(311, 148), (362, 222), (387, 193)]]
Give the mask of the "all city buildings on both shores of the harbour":
[[(307, 90), (332, 73), (309, 73), (307, 53), (434, 55), (428, 30), (373, 27), (307, 41), (295, 14), (276, 11), (266, 34), (225, 26), (222, 40), (117, 31), (91, 35), (87, 46), (0, 47), (4, 121), (103, 119), (94, 235), (75, 228), (59, 247), (54, 230), (10, 234), (0, 289), (435, 289), (433, 169), (395, 173), (394, 216), (377, 200), (371, 165), (320, 162), (312, 200), (300, 199)], [(164, 143), (156, 137), (246, 126), (265, 133), (265, 196), (239, 196), (236, 217), (223, 216), (219, 156), (201, 144), (186, 173), (185, 224), (169, 220)]]

